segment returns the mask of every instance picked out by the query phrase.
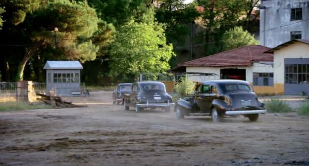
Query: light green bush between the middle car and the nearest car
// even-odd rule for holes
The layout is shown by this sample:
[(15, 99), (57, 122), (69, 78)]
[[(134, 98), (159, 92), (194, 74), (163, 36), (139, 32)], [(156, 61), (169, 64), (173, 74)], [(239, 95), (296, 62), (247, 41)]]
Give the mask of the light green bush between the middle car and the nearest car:
[(194, 93), (195, 83), (187, 80), (187, 78), (182, 77), (176, 84), (176, 91), (179, 93), (180, 97), (186, 97)]

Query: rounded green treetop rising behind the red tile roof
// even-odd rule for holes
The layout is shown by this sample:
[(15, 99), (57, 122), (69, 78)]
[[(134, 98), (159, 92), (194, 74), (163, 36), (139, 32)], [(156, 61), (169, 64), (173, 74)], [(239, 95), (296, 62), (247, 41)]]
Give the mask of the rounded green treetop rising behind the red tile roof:
[(234, 49), (244, 45), (256, 45), (258, 41), (242, 27), (235, 27), (223, 35), (223, 50)]

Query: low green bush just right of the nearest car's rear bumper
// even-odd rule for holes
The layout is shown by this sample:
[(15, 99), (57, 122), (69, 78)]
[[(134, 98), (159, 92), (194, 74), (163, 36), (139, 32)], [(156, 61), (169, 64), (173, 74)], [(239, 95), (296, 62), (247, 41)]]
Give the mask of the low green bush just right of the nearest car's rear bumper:
[(292, 108), (288, 103), (278, 99), (271, 99), (270, 101), (267, 101), (265, 103), (265, 109), (268, 112), (273, 113), (287, 113), (292, 111)]

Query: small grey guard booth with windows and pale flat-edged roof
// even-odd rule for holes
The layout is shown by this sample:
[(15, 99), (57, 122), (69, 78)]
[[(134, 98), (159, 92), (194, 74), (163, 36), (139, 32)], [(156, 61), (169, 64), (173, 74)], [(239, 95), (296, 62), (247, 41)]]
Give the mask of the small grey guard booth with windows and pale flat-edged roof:
[(53, 90), (56, 95), (72, 95), (80, 92), (80, 70), (83, 66), (79, 61), (47, 61), (46, 90)]

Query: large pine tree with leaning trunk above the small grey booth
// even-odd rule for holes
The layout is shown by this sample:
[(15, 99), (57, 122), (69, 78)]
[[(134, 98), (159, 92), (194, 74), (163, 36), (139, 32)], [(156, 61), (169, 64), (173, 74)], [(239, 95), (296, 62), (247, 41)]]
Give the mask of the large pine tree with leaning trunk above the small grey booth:
[[(79, 59), (84, 62), (94, 60), (98, 53), (104, 53), (107, 43), (111, 42), (113, 26), (100, 20), (95, 9), (86, 1), (29, 0), (33, 7), (20, 5), (19, 2), (7, 0), (3, 3), (5, 8), (10, 9), (7, 18), (13, 16), (8, 21), (10, 25), (4, 26), (5, 31), (23, 38), (22, 42), (30, 43), (25, 45), (16, 80), (23, 79), (25, 66), (33, 55), (50, 55), (50, 59)], [(14, 6), (26, 7), (16, 10)], [(58, 31), (54, 31), (55, 28)], [(19, 37), (15, 29), (23, 31), (23, 35)]]

